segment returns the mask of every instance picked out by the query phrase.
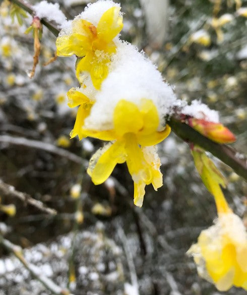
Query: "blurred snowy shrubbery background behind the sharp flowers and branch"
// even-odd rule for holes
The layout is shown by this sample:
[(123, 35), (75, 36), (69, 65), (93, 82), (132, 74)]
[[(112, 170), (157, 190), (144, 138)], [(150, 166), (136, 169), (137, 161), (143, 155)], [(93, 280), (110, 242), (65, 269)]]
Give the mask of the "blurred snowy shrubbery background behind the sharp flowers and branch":
[[(51, 1), (52, 2), (52, 1)], [(119, 2), (119, 1), (118, 1)], [(30, 1), (35, 4), (36, 1)], [(60, 0), (68, 19), (88, 1)], [(247, 1), (122, 0), (121, 38), (157, 64), (177, 96), (201, 99), (247, 144)], [(241, 7), (241, 8), (240, 8)], [(245, 9), (245, 10), (244, 10)], [(201, 279), (186, 251), (212, 225), (216, 209), (194, 168), (189, 147), (174, 134), (158, 146), (164, 185), (146, 187), (143, 207), (133, 205), (133, 181), (126, 164), (95, 186), (87, 162), (102, 145), (70, 140), (76, 109), (66, 92), (78, 86), (75, 58), (59, 57), (55, 37), (43, 27), (35, 76), (32, 19), (12, 22), (0, 9), (0, 232), (24, 248), (30, 264), (73, 294), (217, 295)], [(127, 57), (128, 58), (128, 57)], [(247, 224), (246, 183), (214, 159), (228, 180), (227, 201)], [(13, 185), (24, 202), (8, 193)], [(5, 189), (4, 189), (5, 188)], [(13, 189), (12, 189), (13, 191)], [(31, 196), (56, 215), (25, 201)], [(16, 212), (15, 212), (16, 211)], [(0, 246), (0, 294), (51, 294)], [(221, 294), (246, 294), (232, 288)]]

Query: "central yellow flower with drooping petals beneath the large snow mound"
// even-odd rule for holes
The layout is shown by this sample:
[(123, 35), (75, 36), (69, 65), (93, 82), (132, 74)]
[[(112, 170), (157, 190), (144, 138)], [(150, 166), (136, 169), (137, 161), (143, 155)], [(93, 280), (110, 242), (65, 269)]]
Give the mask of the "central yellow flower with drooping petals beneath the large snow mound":
[(147, 99), (142, 99), (140, 108), (126, 100), (119, 101), (114, 109), (113, 126), (106, 131), (83, 129), (87, 136), (114, 141), (93, 155), (87, 172), (94, 184), (100, 184), (110, 176), (117, 163), (126, 161), (134, 180), (134, 203), (141, 207), (145, 186), (152, 183), (157, 190), (162, 185), (160, 159), (154, 145), (169, 135), (170, 127), (167, 125), (163, 131), (157, 131), (158, 112)]

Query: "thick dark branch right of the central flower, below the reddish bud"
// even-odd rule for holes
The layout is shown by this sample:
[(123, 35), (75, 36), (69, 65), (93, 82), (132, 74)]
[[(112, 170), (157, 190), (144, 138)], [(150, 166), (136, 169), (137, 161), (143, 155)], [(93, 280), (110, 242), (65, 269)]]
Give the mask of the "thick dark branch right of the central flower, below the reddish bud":
[(189, 125), (171, 117), (167, 122), (172, 131), (184, 141), (193, 142), (204, 150), (209, 151), (226, 165), (230, 166), (238, 175), (247, 180), (247, 158), (235, 149), (218, 144), (191, 128)]

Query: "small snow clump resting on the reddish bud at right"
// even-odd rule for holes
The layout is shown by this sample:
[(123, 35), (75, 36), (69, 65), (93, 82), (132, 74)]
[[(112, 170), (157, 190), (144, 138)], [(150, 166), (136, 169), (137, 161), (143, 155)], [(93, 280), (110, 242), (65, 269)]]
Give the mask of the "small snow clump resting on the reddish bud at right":
[(208, 106), (202, 104), (200, 101), (192, 101), (190, 106), (182, 108), (181, 113), (184, 115), (192, 116), (196, 119), (204, 119), (209, 122), (218, 123), (219, 114), (217, 111), (210, 110)]

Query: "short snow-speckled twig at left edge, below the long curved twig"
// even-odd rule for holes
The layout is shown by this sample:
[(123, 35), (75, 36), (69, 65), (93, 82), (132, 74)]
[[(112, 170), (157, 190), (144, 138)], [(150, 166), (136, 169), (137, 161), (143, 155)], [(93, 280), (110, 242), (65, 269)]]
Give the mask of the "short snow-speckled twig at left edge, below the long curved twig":
[(56, 210), (46, 207), (42, 202), (33, 199), (31, 195), (25, 192), (16, 190), (14, 186), (7, 184), (0, 179), (0, 195), (1, 194), (5, 196), (12, 196), (14, 198), (17, 198), (23, 202), (26, 202), (27, 204), (31, 206), (38, 208), (40, 211), (45, 212), (47, 214), (50, 214), (50, 215), (57, 214)]

